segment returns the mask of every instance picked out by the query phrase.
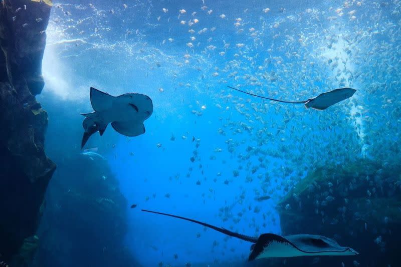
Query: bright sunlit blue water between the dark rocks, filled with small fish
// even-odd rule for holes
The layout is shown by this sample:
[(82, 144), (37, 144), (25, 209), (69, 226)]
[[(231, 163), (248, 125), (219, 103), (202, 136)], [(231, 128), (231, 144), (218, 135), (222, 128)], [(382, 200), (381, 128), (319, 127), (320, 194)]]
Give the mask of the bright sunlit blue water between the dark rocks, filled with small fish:
[[(358, 158), (396, 162), (381, 152), (397, 140), (400, 123), (388, 119), (388, 127), (380, 120), (399, 114), (390, 104), (399, 96), (394, 71), (399, 70), (399, 2), (91, 4), (54, 3), (43, 62), (46, 85), (38, 96), (49, 113), (46, 150), (56, 163), (80, 155), (80, 113), (92, 111), (91, 86), (152, 99), (145, 134), (128, 138), (109, 126), (86, 146), (98, 148), (119, 181), (127, 199), (125, 244), (144, 266), (243, 262), (250, 243), (141, 208), (247, 235), (280, 234), (275, 206), (307, 171)], [(186, 13), (180, 15), (181, 9)], [(198, 23), (188, 26), (194, 19)], [(372, 69), (373, 64), (378, 65)], [(358, 91), (351, 100), (316, 111), (251, 98), (228, 85), (293, 101), (339, 87)], [(193, 151), (197, 156), (191, 162)], [(260, 158), (265, 168), (252, 173)], [(262, 195), (272, 198), (254, 200)], [(130, 209), (131, 204), (137, 207)]]

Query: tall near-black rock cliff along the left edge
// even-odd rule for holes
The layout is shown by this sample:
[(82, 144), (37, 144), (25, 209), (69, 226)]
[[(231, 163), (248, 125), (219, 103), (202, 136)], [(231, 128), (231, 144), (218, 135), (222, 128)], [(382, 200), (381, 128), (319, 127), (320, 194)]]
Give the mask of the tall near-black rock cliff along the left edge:
[[(36, 247), (30, 244), (36, 240), (44, 194), (56, 168), (44, 151), (47, 113), (35, 99), (44, 86), (49, 4), (0, 3), (0, 253), (14, 266), (33, 255), (24, 248)], [(26, 252), (23, 260), (21, 249)]]

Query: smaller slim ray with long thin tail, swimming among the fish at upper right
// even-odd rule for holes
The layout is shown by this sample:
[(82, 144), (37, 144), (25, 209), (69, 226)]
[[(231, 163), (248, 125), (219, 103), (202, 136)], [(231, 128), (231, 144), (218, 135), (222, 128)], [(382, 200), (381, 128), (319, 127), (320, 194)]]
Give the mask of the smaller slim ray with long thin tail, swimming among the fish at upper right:
[(355, 89), (348, 88), (348, 87), (347, 88), (338, 88), (338, 89), (334, 89), (334, 90), (331, 90), (331, 91), (328, 91), (325, 93), (321, 93), (317, 97), (309, 98), (308, 100), (284, 101), (284, 100), (278, 100), (278, 99), (273, 99), (273, 98), (268, 98), (268, 97), (264, 97), (264, 96), (251, 94), (251, 93), (242, 91), (240, 89), (237, 89), (237, 88), (234, 88), (231, 86), (228, 86), (228, 87), (231, 89), (234, 89), (236, 91), (251, 95), (251, 96), (256, 96), (256, 97), (260, 97), (263, 99), (268, 99), (268, 100), (277, 101), (277, 102), (281, 102), (281, 103), (305, 104), (306, 108), (313, 108), (313, 109), (317, 109), (317, 110), (325, 110), (328, 107), (330, 107), (340, 101), (350, 98), (356, 92)]

